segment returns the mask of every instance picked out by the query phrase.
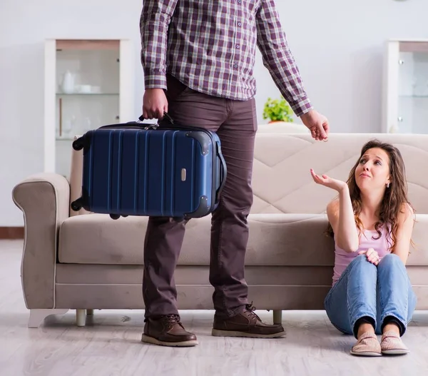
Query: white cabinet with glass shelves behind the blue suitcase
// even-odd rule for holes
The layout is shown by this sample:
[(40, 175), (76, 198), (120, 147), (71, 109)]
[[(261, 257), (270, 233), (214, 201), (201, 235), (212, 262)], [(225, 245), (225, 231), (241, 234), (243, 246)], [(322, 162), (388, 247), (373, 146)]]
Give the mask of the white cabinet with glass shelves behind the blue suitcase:
[(45, 41), (44, 170), (68, 178), (73, 136), (136, 120), (130, 40)]

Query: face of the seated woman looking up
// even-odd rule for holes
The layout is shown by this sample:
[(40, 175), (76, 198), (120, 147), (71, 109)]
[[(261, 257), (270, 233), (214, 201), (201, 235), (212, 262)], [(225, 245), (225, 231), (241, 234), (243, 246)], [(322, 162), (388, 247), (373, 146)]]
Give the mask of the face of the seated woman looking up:
[(389, 156), (381, 148), (371, 148), (360, 158), (355, 181), (362, 191), (384, 189), (389, 183)]

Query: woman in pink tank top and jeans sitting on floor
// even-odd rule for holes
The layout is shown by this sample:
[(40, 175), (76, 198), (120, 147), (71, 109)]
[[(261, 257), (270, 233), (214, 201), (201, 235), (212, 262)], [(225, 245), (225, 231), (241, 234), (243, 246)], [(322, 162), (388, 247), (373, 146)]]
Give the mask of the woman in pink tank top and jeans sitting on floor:
[(327, 205), (335, 239), (333, 285), (325, 298), (330, 321), (357, 338), (352, 355), (406, 354), (401, 337), (417, 299), (405, 268), (414, 210), (401, 153), (372, 140), (347, 183), (310, 172), (315, 183), (339, 193)]

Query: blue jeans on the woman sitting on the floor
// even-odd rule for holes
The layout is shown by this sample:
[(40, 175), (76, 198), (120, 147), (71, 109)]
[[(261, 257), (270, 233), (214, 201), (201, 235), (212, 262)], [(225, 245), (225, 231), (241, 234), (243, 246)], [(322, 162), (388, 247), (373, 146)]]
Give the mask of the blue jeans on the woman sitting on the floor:
[(385, 318), (393, 317), (404, 334), (416, 302), (406, 267), (397, 255), (384, 256), (377, 266), (359, 255), (331, 288), (324, 306), (332, 325), (345, 334), (356, 335), (355, 323), (362, 317), (371, 318), (378, 335)]

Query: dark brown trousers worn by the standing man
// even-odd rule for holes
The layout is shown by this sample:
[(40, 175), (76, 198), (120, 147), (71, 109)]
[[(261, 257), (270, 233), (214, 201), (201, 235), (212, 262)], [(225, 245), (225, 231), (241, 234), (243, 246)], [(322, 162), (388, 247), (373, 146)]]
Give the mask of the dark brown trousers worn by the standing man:
[[(168, 113), (178, 123), (215, 131), (228, 168), (220, 204), (212, 215), (210, 283), (217, 315), (232, 316), (248, 304), (244, 278), (247, 216), (253, 204), (251, 176), (257, 131), (255, 101), (233, 101), (187, 88), (168, 76)], [(163, 126), (161, 121), (160, 126)], [(146, 317), (178, 314), (174, 271), (185, 222), (151, 217), (144, 244)]]

